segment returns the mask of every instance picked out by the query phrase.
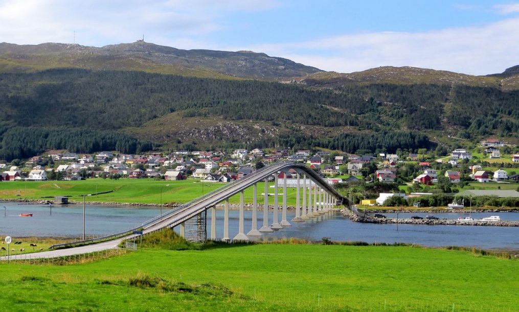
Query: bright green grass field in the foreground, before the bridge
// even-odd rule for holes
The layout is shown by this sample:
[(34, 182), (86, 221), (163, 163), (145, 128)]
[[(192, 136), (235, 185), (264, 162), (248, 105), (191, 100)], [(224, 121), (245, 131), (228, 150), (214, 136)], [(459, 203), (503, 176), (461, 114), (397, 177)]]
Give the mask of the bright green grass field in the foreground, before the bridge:
[[(200, 289), (128, 283), (145, 276)], [(147, 249), (87, 264), (0, 264), (6, 310), (513, 311), (517, 289), (519, 261), (413, 247)]]

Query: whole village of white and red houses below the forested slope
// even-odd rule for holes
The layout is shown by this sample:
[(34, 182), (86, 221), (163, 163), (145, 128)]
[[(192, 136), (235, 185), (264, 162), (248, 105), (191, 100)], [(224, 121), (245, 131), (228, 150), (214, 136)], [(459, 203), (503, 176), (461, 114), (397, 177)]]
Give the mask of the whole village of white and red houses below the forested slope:
[[(503, 146), (502, 141), (487, 139), (481, 141), (481, 146), (485, 148), (490, 158), (501, 157), (498, 147)], [(470, 179), (482, 183), (519, 178), (517, 175), (509, 177), (502, 169), (487, 172), (477, 164), (470, 166), (470, 175), (465, 171), (466, 175), (462, 177), (459, 168), (472, 159), (472, 153), (461, 148), (450, 152), (448, 159), (436, 161), (430, 159), (425, 161), (424, 155), (417, 153), (357, 155), (288, 148), (235, 149), (234, 151), (177, 150), (171, 153), (147, 154), (121, 154), (108, 151), (78, 154), (54, 150), (32, 157), (19, 166), (7, 167), (5, 162), (0, 161), (0, 169), (3, 169), (0, 181), (80, 180), (93, 177), (184, 180), (192, 177), (208, 182), (230, 182), (252, 173), (259, 166), (277, 161), (306, 163), (329, 183), (357, 181), (361, 176), (364, 176), (366, 181), (413, 182), (426, 186), (438, 183), (440, 174), (454, 184), (459, 183), (463, 178), (467, 179), (467, 175)], [(512, 161), (519, 162), (519, 153), (513, 154)], [(407, 162), (418, 164), (420, 172), (414, 178), (407, 176), (405, 179), (397, 179), (399, 168)], [(450, 169), (446, 169), (445, 165)]]

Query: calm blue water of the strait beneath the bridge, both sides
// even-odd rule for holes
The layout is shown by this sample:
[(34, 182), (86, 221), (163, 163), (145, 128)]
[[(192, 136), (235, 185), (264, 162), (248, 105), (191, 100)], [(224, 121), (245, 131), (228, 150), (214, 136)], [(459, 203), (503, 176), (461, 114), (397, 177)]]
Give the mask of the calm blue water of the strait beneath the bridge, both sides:
[[(3, 205), (7, 208), (4, 216)], [(52, 210), (52, 211), (51, 211)], [(166, 210), (164, 210), (166, 211)], [(33, 214), (33, 217), (19, 217), (19, 214)], [(135, 207), (86, 207), (87, 235), (102, 236), (131, 229), (142, 222), (160, 214), (160, 209)], [(208, 228), (210, 233), (210, 212)], [(216, 212), (216, 234), (223, 234), (223, 210)], [(393, 217), (393, 214), (386, 214)], [(399, 214), (400, 218), (427, 214)], [(434, 214), (440, 218), (457, 219), (466, 214)], [(473, 218), (498, 215), (502, 220), (519, 220), (517, 212), (492, 212), (472, 214)], [(292, 219), (294, 213), (288, 213)], [(396, 214), (394, 214), (396, 217)], [(279, 214), (281, 220), (281, 213)], [(233, 238), (238, 232), (239, 212), (229, 213), (229, 236)], [(245, 233), (251, 229), (252, 212), (245, 211)], [(272, 214), (269, 213), (269, 224)], [(363, 240), (365, 242), (405, 242), (426, 246), (474, 246), (479, 248), (519, 249), (519, 228), (501, 226), (461, 226), (461, 225), (415, 225), (355, 223), (340, 215), (320, 216), (305, 222), (291, 222), (293, 225), (283, 230), (266, 233), (266, 238), (299, 237), (309, 240), (321, 240), (330, 237), (332, 240)], [(258, 211), (257, 228), (263, 225), (263, 211)], [(177, 230), (177, 229), (175, 229)], [(0, 236), (80, 236), (83, 231), (83, 206), (19, 205), (0, 203)]]

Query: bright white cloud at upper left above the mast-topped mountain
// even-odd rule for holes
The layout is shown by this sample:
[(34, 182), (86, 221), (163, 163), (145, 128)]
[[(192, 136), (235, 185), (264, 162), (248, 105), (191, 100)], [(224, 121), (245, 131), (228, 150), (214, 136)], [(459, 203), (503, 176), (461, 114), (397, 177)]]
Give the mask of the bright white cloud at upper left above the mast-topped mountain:
[(0, 0), (0, 38), (16, 44), (76, 42), (99, 46), (141, 37), (204, 36), (223, 29), (229, 11), (259, 11), (275, 0)]

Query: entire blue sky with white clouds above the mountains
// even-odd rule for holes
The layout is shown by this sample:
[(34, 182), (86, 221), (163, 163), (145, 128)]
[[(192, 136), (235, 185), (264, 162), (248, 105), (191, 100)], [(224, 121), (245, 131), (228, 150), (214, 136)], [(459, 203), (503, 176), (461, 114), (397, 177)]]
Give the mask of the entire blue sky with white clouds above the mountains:
[(252, 50), (324, 70), (416, 66), (485, 75), (518, 65), (519, 1), (0, 0), (0, 41), (104, 46), (145, 35)]

